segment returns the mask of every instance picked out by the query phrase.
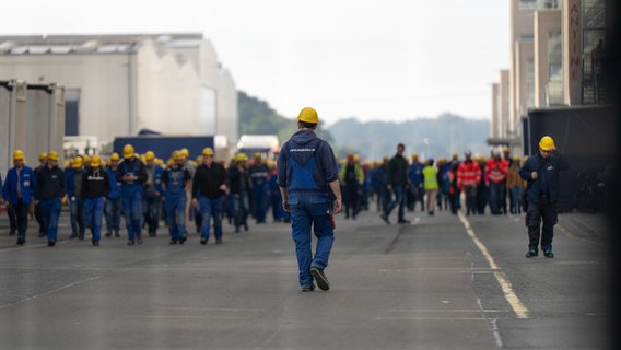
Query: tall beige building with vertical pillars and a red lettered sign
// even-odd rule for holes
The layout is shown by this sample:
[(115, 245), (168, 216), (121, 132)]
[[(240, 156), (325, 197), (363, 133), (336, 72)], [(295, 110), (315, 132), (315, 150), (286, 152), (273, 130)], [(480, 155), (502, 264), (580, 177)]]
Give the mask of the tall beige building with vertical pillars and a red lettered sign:
[(609, 103), (601, 82), (605, 0), (509, 0), (509, 69), (492, 85), (491, 145), (523, 150), (535, 108)]

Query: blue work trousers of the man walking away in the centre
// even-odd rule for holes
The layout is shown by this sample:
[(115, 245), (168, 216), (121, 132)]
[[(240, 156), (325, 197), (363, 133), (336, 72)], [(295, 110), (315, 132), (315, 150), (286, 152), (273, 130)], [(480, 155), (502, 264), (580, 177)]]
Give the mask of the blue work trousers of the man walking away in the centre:
[[(328, 195), (323, 192), (290, 192), (292, 237), (295, 243), (297, 267), (300, 268), (300, 285), (307, 287), (313, 283), (310, 268), (320, 270), (328, 266), (330, 252), (335, 242), (335, 229), (328, 218)], [(310, 247), (313, 226), (317, 237), (317, 247), (313, 256)]]

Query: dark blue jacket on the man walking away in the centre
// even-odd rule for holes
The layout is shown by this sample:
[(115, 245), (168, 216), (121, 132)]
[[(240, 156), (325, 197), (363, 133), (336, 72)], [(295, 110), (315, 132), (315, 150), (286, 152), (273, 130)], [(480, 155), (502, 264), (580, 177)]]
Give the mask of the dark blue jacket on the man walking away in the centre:
[(278, 186), (289, 188), (293, 179), (292, 159), (300, 165), (306, 165), (315, 156), (312, 176), (321, 191), (328, 191), (328, 184), (339, 179), (337, 160), (328, 142), (319, 139), (313, 130), (295, 132), (282, 145), (278, 156)]

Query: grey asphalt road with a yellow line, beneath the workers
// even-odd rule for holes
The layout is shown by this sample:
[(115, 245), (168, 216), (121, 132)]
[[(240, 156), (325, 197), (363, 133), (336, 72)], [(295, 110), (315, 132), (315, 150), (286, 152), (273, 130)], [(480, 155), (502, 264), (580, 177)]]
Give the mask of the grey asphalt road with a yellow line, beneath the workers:
[[(429, 217), (387, 225), (337, 219), (326, 275), (302, 293), (283, 223), (207, 246), (166, 228), (56, 247), (15, 246), (0, 218), (1, 349), (604, 349), (610, 339), (608, 238), (560, 217), (556, 257), (526, 259), (524, 218)], [(396, 221), (396, 212), (392, 213)]]

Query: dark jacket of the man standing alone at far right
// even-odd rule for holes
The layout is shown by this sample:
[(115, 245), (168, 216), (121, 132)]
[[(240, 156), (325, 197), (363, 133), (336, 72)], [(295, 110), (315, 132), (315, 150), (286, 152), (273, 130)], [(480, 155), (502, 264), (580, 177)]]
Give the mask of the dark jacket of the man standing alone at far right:
[[(550, 200), (556, 202), (561, 192), (559, 173), (570, 168), (567, 160), (559, 152), (554, 152), (548, 159), (543, 159), (539, 153), (534, 154), (524, 163), (519, 171), (519, 176), (527, 180), (526, 200), (537, 203), (541, 197), (541, 180), (543, 176), (548, 183)], [(532, 179), (532, 172), (537, 171), (537, 179)]]

